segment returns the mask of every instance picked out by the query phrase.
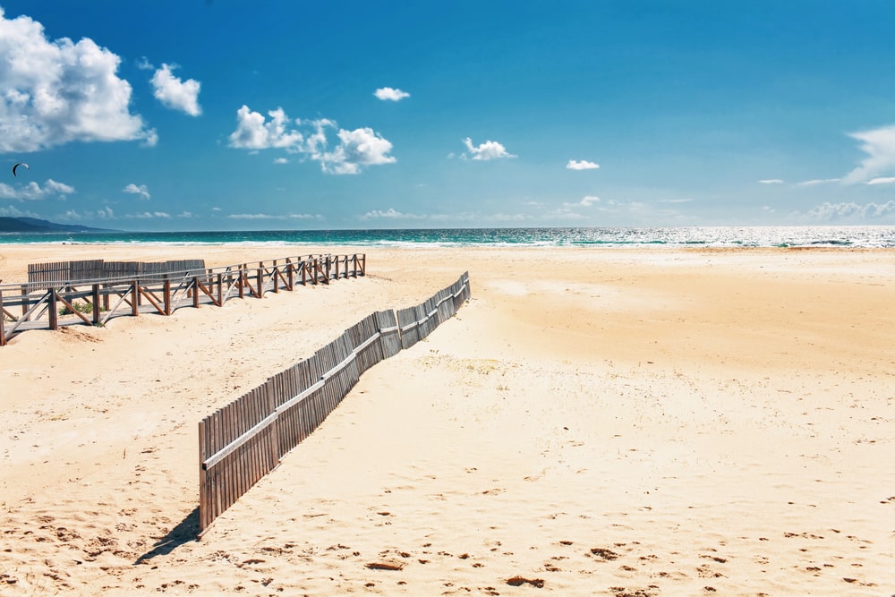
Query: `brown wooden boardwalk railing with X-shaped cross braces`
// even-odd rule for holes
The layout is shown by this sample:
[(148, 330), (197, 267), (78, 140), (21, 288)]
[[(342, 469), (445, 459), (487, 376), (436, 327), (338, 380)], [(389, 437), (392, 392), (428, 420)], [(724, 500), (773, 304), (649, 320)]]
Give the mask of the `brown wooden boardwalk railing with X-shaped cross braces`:
[[(0, 346), (29, 329), (58, 329), (65, 325), (105, 325), (113, 317), (141, 313), (171, 315), (184, 306), (200, 304), (224, 306), (227, 300), (247, 294), (261, 298), (265, 293), (292, 290), (295, 285), (329, 284), (342, 277), (366, 273), (366, 255), (308, 255), (286, 257), (220, 268), (198, 268), (180, 262), (186, 269), (165, 270), (165, 264), (137, 262), (68, 262), (39, 264), (44, 271), (30, 270), (34, 280), (21, 285), (0, 285)], [(75, 264), (112, 266), (112, 271), (132, 273), (100, 278), (71, 276)], [(82, 268), (83, 266), (78, 266)], [(171, 267), (171, 266), (167, 266)], [(110, 269), (104, 269), (109, 271)], [(60, 311), (64, 315), (60, 315)]]

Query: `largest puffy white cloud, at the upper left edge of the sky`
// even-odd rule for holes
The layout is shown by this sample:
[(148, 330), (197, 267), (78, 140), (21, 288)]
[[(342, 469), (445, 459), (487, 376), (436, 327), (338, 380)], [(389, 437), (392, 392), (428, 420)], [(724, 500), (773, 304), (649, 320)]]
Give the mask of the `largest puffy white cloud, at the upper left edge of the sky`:
[(92, 39), (51, 41), (38, 21), (6, 19), (0, 8), (0, 56), (0, 152), (156, 140), (129, 111), (131, 84), (116, 75), (121, 58)]

